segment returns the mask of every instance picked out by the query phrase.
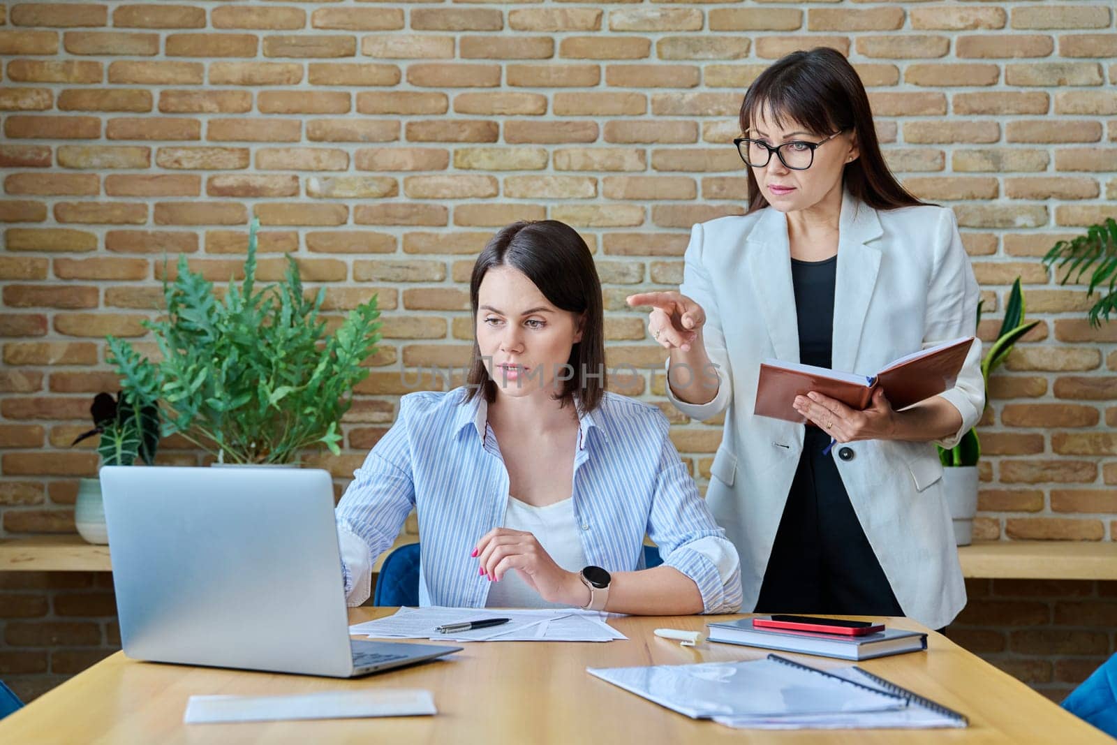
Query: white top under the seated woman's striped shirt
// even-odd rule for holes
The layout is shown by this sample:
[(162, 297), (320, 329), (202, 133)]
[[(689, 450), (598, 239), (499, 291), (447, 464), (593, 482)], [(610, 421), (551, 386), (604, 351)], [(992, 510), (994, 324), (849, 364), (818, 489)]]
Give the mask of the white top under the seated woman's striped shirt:
[[(509, 494), (504, 527), (534, 535), (554, 563), (567, 572), (581, 572), (589, 564), (582, 548), (581, 531), (574, 519), (573, 497), (536, 507)], [(516, 570), (505, 572), (499, 582), (493, 581), (490, 585), (485, 600), (487, 608), (570, 608), (543, 600)]]

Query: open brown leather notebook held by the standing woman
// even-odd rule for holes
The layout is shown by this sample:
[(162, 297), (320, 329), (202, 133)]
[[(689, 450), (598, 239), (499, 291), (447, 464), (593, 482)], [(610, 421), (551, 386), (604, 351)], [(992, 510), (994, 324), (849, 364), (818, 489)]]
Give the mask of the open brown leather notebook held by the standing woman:
[(954, 388), (974, 337), (943, 342), (895, 360), (876, 375), (855, 375), (795, 362), (761, 363), (753, 413), (793, 422), (805, 421), (792, 403), (817, 391), (858, 411), (869, 405), (878, 388), (892, 409), (904, 409)]

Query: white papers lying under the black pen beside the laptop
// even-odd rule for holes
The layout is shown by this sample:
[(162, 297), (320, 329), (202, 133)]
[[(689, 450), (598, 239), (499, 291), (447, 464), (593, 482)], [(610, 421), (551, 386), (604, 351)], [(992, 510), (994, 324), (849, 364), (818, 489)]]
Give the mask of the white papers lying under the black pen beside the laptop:
[[(440, 633), (436, 627), (486, 618), (508, 618), (508, 623)], [(612, 641), (627, 639), (596, 611), (504, 610), (485, 608), (401, 608), (394, 615), (350, 627), (351, 634), (374, 639), (435, 639), (440, 641)]]

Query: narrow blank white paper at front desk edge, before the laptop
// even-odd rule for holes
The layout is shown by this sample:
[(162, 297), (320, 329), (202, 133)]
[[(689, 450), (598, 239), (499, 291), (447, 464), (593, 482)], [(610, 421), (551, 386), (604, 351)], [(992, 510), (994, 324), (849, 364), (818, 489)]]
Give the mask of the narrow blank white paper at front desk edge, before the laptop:
[(331, 690), (296, 696), (191, 696), (185, 724), (437, 714), (429, 690)]

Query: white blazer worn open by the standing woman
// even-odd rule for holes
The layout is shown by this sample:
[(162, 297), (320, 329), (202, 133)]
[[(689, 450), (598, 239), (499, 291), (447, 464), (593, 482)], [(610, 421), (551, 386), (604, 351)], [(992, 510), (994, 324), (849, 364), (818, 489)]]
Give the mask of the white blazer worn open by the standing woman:
[[(706, 500), (741, 554), (742, 609), (754, 609), (803, 450), (804, 426), (753, 416), (760, 363), (799, 361), (786, 217), (771, 207), (694, 226), (679, 290), (706, 311), (720, 385), (709, 403), (668, 398), (691, 419), (726, 411)], [(871, 375), (896, 357), (975, 334), (977, 283), (954, 212), (877, 211), (842, 195), (834, 287), (834, 370)], [(668, 361), (669, 363), (669, 361)], [(985, 404), (981, 342), (942, 394), (962, 413), (953, 447)], [(930, 442), (850, 442), (831, 450), (865, 534), (905, 615), (937, 629), (966, 602), (943, 466)]]

